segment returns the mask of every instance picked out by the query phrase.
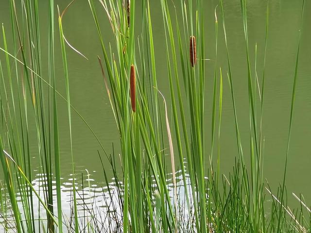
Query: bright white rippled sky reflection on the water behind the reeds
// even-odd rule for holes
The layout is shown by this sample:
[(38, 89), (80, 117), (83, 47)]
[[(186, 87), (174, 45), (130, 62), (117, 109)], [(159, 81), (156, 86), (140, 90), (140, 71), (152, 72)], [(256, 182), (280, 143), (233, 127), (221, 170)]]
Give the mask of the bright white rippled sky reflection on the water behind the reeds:
[[(95, 229), (96, 232), (121, 232), (122, 231), (122, 205), (123, 205), (123, 183), (112, 178), (110, 183), (106, 185), (99, 185), (98, 181), (92, 179), (92, 175), (96, 171), (88, 172), (87, 170), (81, 176), (75, 178), (76, 187), (76, 201), (78, 211), (78, 222), (80, 231), (83, 232), (89, 225)], [(81, 174), (81, 173), (80, 173)], [(181, 170), (176, 172), (176, 186), (177, 186), (177, 216), (183, 221), (187, 222), (189, 219), (189, 212), (185, 197), (185, 185), (182, 180)], [(166, 180), (168, 184), (169, 195), (172, 204), (174, 203), (174, 187), (172, 181), (172, 173), (167, 174), (169, 177)], [(55, 178), (54, 178), (55, 179)], [(154, 177), (152, 187), (155, 188)], [(44, 190), (45, 181), (47, 180), (46, 174), (38, 173), (35, 175), (35, 179), (32, 181), (32, 185), (35, 191), (39, 194), (42, 200), (45, 200)], [(64, 232), (74, 231), (74, 219), (73, 219), (73, 177), (69, 174), (67, 178), (61, 178), (61, 203), (62, 203), (62, 214), (63, 214), (63, 229)], [(190, 178), (186, 174), (187, 191), (192, 199), (192, 193), (190, 189)], [(26, 187), (29, 189), (29, 187)], [(2, 189), (3, 190), (3, 189)], [(154, 193), (152, 191), (152, 193)], [(57, 217), (57, 200), (56, 200), (56, 182), (52, 181), (52, 195), (53, 195), (53, 208), (54, 215)], [(21, 218), (25, 223), (25, 214), (23, 213), (22, 197), (20, 193), (16, 195), (18, 201), (18, 208), (22, 212)], [(153, 195), (152, 200), (155, 201)], [(30, 199), (29, 199), (30, 200)], [(9, 233), (14, 233), (14, 217), (12, 207), (10, 206), (9, 196), (3, 199), (3, 205), (6, 205), (6, 217), (0, 216), (0, 232), (4, 233), (4, 225), (8, 228)], [(43, 229), (42, 226), (46, 224), (46, 211), (38, 198), (33, 194), (33, 207), (35, 216), (35, 230), (39, 231)], [(40, 220), (40, 221), (39, 221)], [(185, 226), (187, 227), (187, 226)]]

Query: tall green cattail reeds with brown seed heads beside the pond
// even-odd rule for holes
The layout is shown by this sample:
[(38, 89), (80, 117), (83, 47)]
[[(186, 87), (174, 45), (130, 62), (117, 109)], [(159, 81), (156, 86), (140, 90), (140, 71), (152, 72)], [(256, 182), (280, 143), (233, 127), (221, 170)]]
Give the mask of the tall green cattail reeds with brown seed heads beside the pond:
[[(266, 51), (268, 44), (269, 8), (267, 3), (264, 61), (262, 79), (259, 83), (257, 44), (255, 46), (255, 66), (251, 64), (247, 26), (247, 2), (241, 0), (242, 26), (245, 39), (245, 59), (247, 62), (247, 83), (249, 100), (249, 153), (242, 150), (239, 118), (236, 108), (232, 54), (228, 48), (225, 7), (223, 1), (215, 8), (215, 54), (211, 61), (206, 52), (205, 1), (171, 2), (160, 0), (161, 12), (153, 15), (148, 0), (87, 0), (93, 16), (97, 37), (102, 54), (98, 56), (99, 70), (102, 72), (103, 85), (120, 135), (122, 173), (116, 171), (115, 151), (108, 155), (102, 143), (86, 120), (70, 103), (70, 78), (66, 50), (73, 49), (64, 37), (62, 17), (71, 4), (58, 9), (58, 28), (60, 40), (54, 41), (55, 3), (49, 0), (49, 26), (39, 25), (38, 0), (24, 0), (22, 9), (17, 9), (16, 1), (9, 0), (13, 45), (7, 41), (7, 25), (2, 25), (3, 43), (0, 46), (4, 59), (0, 60), (1, 78), (1, 133), (0, 161), (4, 174), (3, 189), (0, 190), (1, 217), (3, 227), (9, 231), (13, 227), (17, 233), (33, 232), (309, 232), (311, 212), (302, 196), (294, 197), (300, 209), (292, 212), (286, 205), (286, 167), (289, 156), (291, 129), (294, 114), (295, 87), (299, 64), (300, 32), (294, 67), (294, 84), (291, 103), (288, 146), (285, 160), (284, 178), (277, 193), (271, 191), (263, 174), (263, 132), (262, 114), (264, 84), (266, 79)], [(58, 6), (57, 6), (58, 7)], [(301, 21), (303, 18), (302, 4)], [(162, 13), (162, 14), (161, 14)], [(101, 28), (99, 14), (106, 14), (114, 38), (109, 46)], [(159, 90), (154, 40), (157, 32), (153, 22), (162, 16), (165, 40), (163, 47), (166, 55), (166, 77), (170, 94), (165, 96)], [(136, 22), (141, 17), (142, 26), (137, 33)], [(180, 20), (182, 18), (182, 20)], [(218, 23), (221, 22), (222, 31)], [(105, 28), (104, 30), (107, 30)], [(48, 34), (48, 41), (42, 34)], [(218, 40), (223, 33), (225, 43)], [(195, 43), (194, 43), (195, 39)], [(63, 77), (55, 75), (54, 44), (60, 42), (63, 61)], [(48, 62), (43, 59), (42, 44), (48, 43)], [(219, 67), (217, 57), (219, 48), (225, 47), (227, 65)], [(260, 48), (259, 48), (260, 49)], [(83, 55), (82, 55), (83, 56)], [(214, 62), (213, 77), (207, 77), (208, 62)], [(45, 64), (46, 63), (46, 64)], [(6, 71), (4, 71), (4, 67)], [(48, 67), (48, 73), (42, 67)], [(227, 76), (232, 106), (234, 110), (237, 156), (232, 172), (221, 175), (221, 120), (223, 103), (223, 78)], [(213, 85), (207, 87), (206, 79), (212, 78)], [(66, 87), (63, 97), (56, 87), (56, 79), (62, 80)], [(261, 86), (260, 86), (261, 85)], [(212, 105), (206, 100), (212, 96)], [(57, 114), (61, 97), (66, 101), (72, 165), (72, 214), (63, 217), (61, 197), (61, 164)], [(257, 107), (257, 103), (260, 107)], [(29, 106), (31, 105), (31, 106)], [(211, 108), (211, 140), (206, 138), (205, 108)], [(32, 114), (33, 119), (29, 118)], [(104, 222), (97, 218), (94, 210), (78, 213), (72, 148), (71, 113), (77, 114), (99, 143), (99, 159), (103, 166), (104, 182), (111, 193), (109, 178), (106, 175), (101, 154), (104, 152), (113, 170), (117, 203), (121, 207), (121, 220), (114, 211), (106, 214), (107, 221), (114, 222), (115, 228), (104, 229)], [(34, 159), (30, 150), (30, 124), (35, 125), (37, 162), (43, 189), (37, 192), (31, 181)], [(171, 132), (172, 130), (172, 132)], [(116, 143), (116, 142), (114, 142)], [(211, 145), (210, 150), (206, 149)], [(215, 160), (216, 153), (216, 160)], [(167, 156), (169, 154), (169, 156)], [(250, 157), (250, 166), (245, 162)], [(167, 157), (170, 160), (167, 160)], [(207, 163), (206, 163), (207, 161)], [(186, 162), (186, 165), (184, 165)], [(175, 166), (180, 171), (175, 171)], [(208, 165), (206, 167), (206, 165)], [(216, 167), (215, 167), (216, 166)], [(172, 174), (170, 173), (172, 172)], [(56, 182), (56, 196), (52, 193), (52, 182)], [(181, 182), (176, 177), (181, 175)], [(88, 184), (89, 185), (89, 184)], [(90, 185), (89, 185), (90, 187)], [(184, 187), (184, 194), (180, 189)], [(41, 193), (43, 192), (43, 193)], [(20, 196), (19, 205), (16, 197)], [(181, 200), (184, 195), (185, 200)], [(41, 198), (43, 196), (43, 198)], [(270, 197), (269, 209), (265, 201)], [(46, 213), (34, 207), (38, 199)], [(14, 221), (10, 220), (9, 200)], [(57, 204), (57, 210), (56, 210)], [(85, 203), (84, 203), (85, 204)], [(188, 215), (185, 212), (188, 212)], [(35, 218), (38, 212), (39, 219)], [(57, 215), (56, 215), (57, 213)], [(69, 220), (68, 220), (69, 219)]]

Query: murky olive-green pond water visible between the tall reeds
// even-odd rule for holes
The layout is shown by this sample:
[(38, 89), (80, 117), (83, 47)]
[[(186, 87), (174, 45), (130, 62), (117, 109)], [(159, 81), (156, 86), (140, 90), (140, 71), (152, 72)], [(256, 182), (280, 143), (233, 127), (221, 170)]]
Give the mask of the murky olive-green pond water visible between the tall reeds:
[[(11, 24), (8, 0), (0, 0), (0, 23), (4, 24), (8, 37), (9, 50), (13, 50), (11, 37)], [(138, 1), (136, 17), (136, 35), (140, 35), (140, 1)], [(179, 4), (179, 1), (177, 1)], [(258, 58), (257, 68), (259, 82), (262, 78), (264, 33), (266, 17), (266, 1), (248, 0), (248, 33), (249, 49), (254, 73), (255, 44), (257, 43)], [(63, 75), (62, 58), (59, 43), (57, 8), (64, 9), (69, 0), (55, 0), (55, 62), (56, 79), (58, 90), (65, 95), (65, 81)], [(155, 60), (157, 69), (158, 88), (163, 95), (169, 99), (169, 81), (166, 69), (166, 54), (164, 42), (163, 21), (160, 3), (152, 0), (152, 23), (155, 37)], [(171, 3), (170, 3), (171, 4)], [(214, 9), (217, 0), (206, 0), (205, 8), (205, 32), (206, 32), (206, 151), (210, 151), (210, 125), (212, 110), (212, 83), (214, 71)], [(18, 1), (17, 9), (20, 10)], [(108, 23), (104, 9), (97, 4), (100, 15), (100, 23), (103, 30), (106, 45), (114, 43), (111, 28)], [(171, 4), (172, 7), (172, 4)], [(247, 64), (245, 55), (245, 42), (241, 17), (241, 6), (239, 0), (225, 0), (226, 30), (228, 47), (231, 56), (234, 91), (237, 105), (238, 122), (240, 127), (245, 160), (249, 159), (249, 109), (247, 89)], [(39, 1), (42, 59), (47, 64), (48, 53), (48, 1)], [(219, 9), (218, 9), (219, 10)], [(274, 191), (283, 179), (284, 163), (286, 156), (286, 145), (288, 139), (290, 106), (294, 79), (295, 56), (297, 50), (298, 30), (301, 1), (299, 0), (272, 0), (269, 1), (269, 34), (266, 57), (266, 81), (265, 99), (263, 107), (264, 134), (264, 178), (266, 178)], [(287, 190), (290, 203), (298, 205), (294, 200), (292, 192), (302, 193), (307, 201), (311, 203), (311, 2), (306, 2), (303, 32), (301, 37), (301, 50), (299, 55), (298, 80), (296, 86), (296, 99), (294, 108), (294, 122), (287, 171)], [(220, 18), (220, 11), (218, 11)], [(101, 55), (101, 48), (97, 37), (96, 28), (86, 0), (76, 0), (63, 18), (64, 33), (67, 40), (81, 51), (88, 61), (77, 55), (68, 48), (70, 98), (71, 104), (86, 119), (94, 132), (99, 137), (108, 153), (112, 153), (114, 144), (115, 154), (121, 151), (117, 126), (110, 108), (107, 93), (104, 87), (103, 77), (98, 65), (97, 55)], [(0, 47), (3, 48), (2, 35), (0, 35)], [(0, 52), (0, 59), (5, 64), (4, 54)], [(222, 67), (223, 73), (227, 72), (225, 55), (225, 41), (221, 24), (219, 24), (219, 51), (218, 66)], [(48, 78), (47, 66), (43, 67), (43, 78)], [(261, 83), (260, 83), (261, 85)], [(235, 123), (233, 106), (229, 84), (224, 79), (223, 92), (223, 117), (221, 128), (221, 170), (228, 174), (232, 171), (234, 159), (238, 155), (235, 137)], [(70, 189), (71, 159), (69, 146), (69, 127), (66, 102), (58, 99), (59, 133), (61, 172), (63, 177), (63, 191)], [(172, 117), (170, 117), (170, 120)], [(31, 132), (35, 135), (35, 125), (30, 125)], [(112, 171), (101, 150), (98, 142), (91, 134), (82, 120), (72, 114), (73, 153), (77, 173), (77, 183), (81, 183), (81, 173), (86, 177), (86, 169), (90, 176), (89, 181), (93, 187), (105, 186), (103, 169), (99, 160), (98, 150), (102, 154), (104, 166), (109, 178)], [(32, 147), (34, 149), (34, 174), (38, 174), (35, 152), (36, 140)], [(116, 157), (117, 159), (119, 156)], [(208, 161), (208, 160), (207, 160)], [(120, 162), (117, 160), (120, 170)], [(208, 165), (207, 165), (208, 168)], [(2, 176), (2, 173), (1, 173)], [(40, 175), (37, 175), (37, 178)], [(2, 177), (0, 177), (2, 179)], [(34, 181), (35, 182), (35, 181)], [(309, 201), (309, 202), (308, 202)]]

